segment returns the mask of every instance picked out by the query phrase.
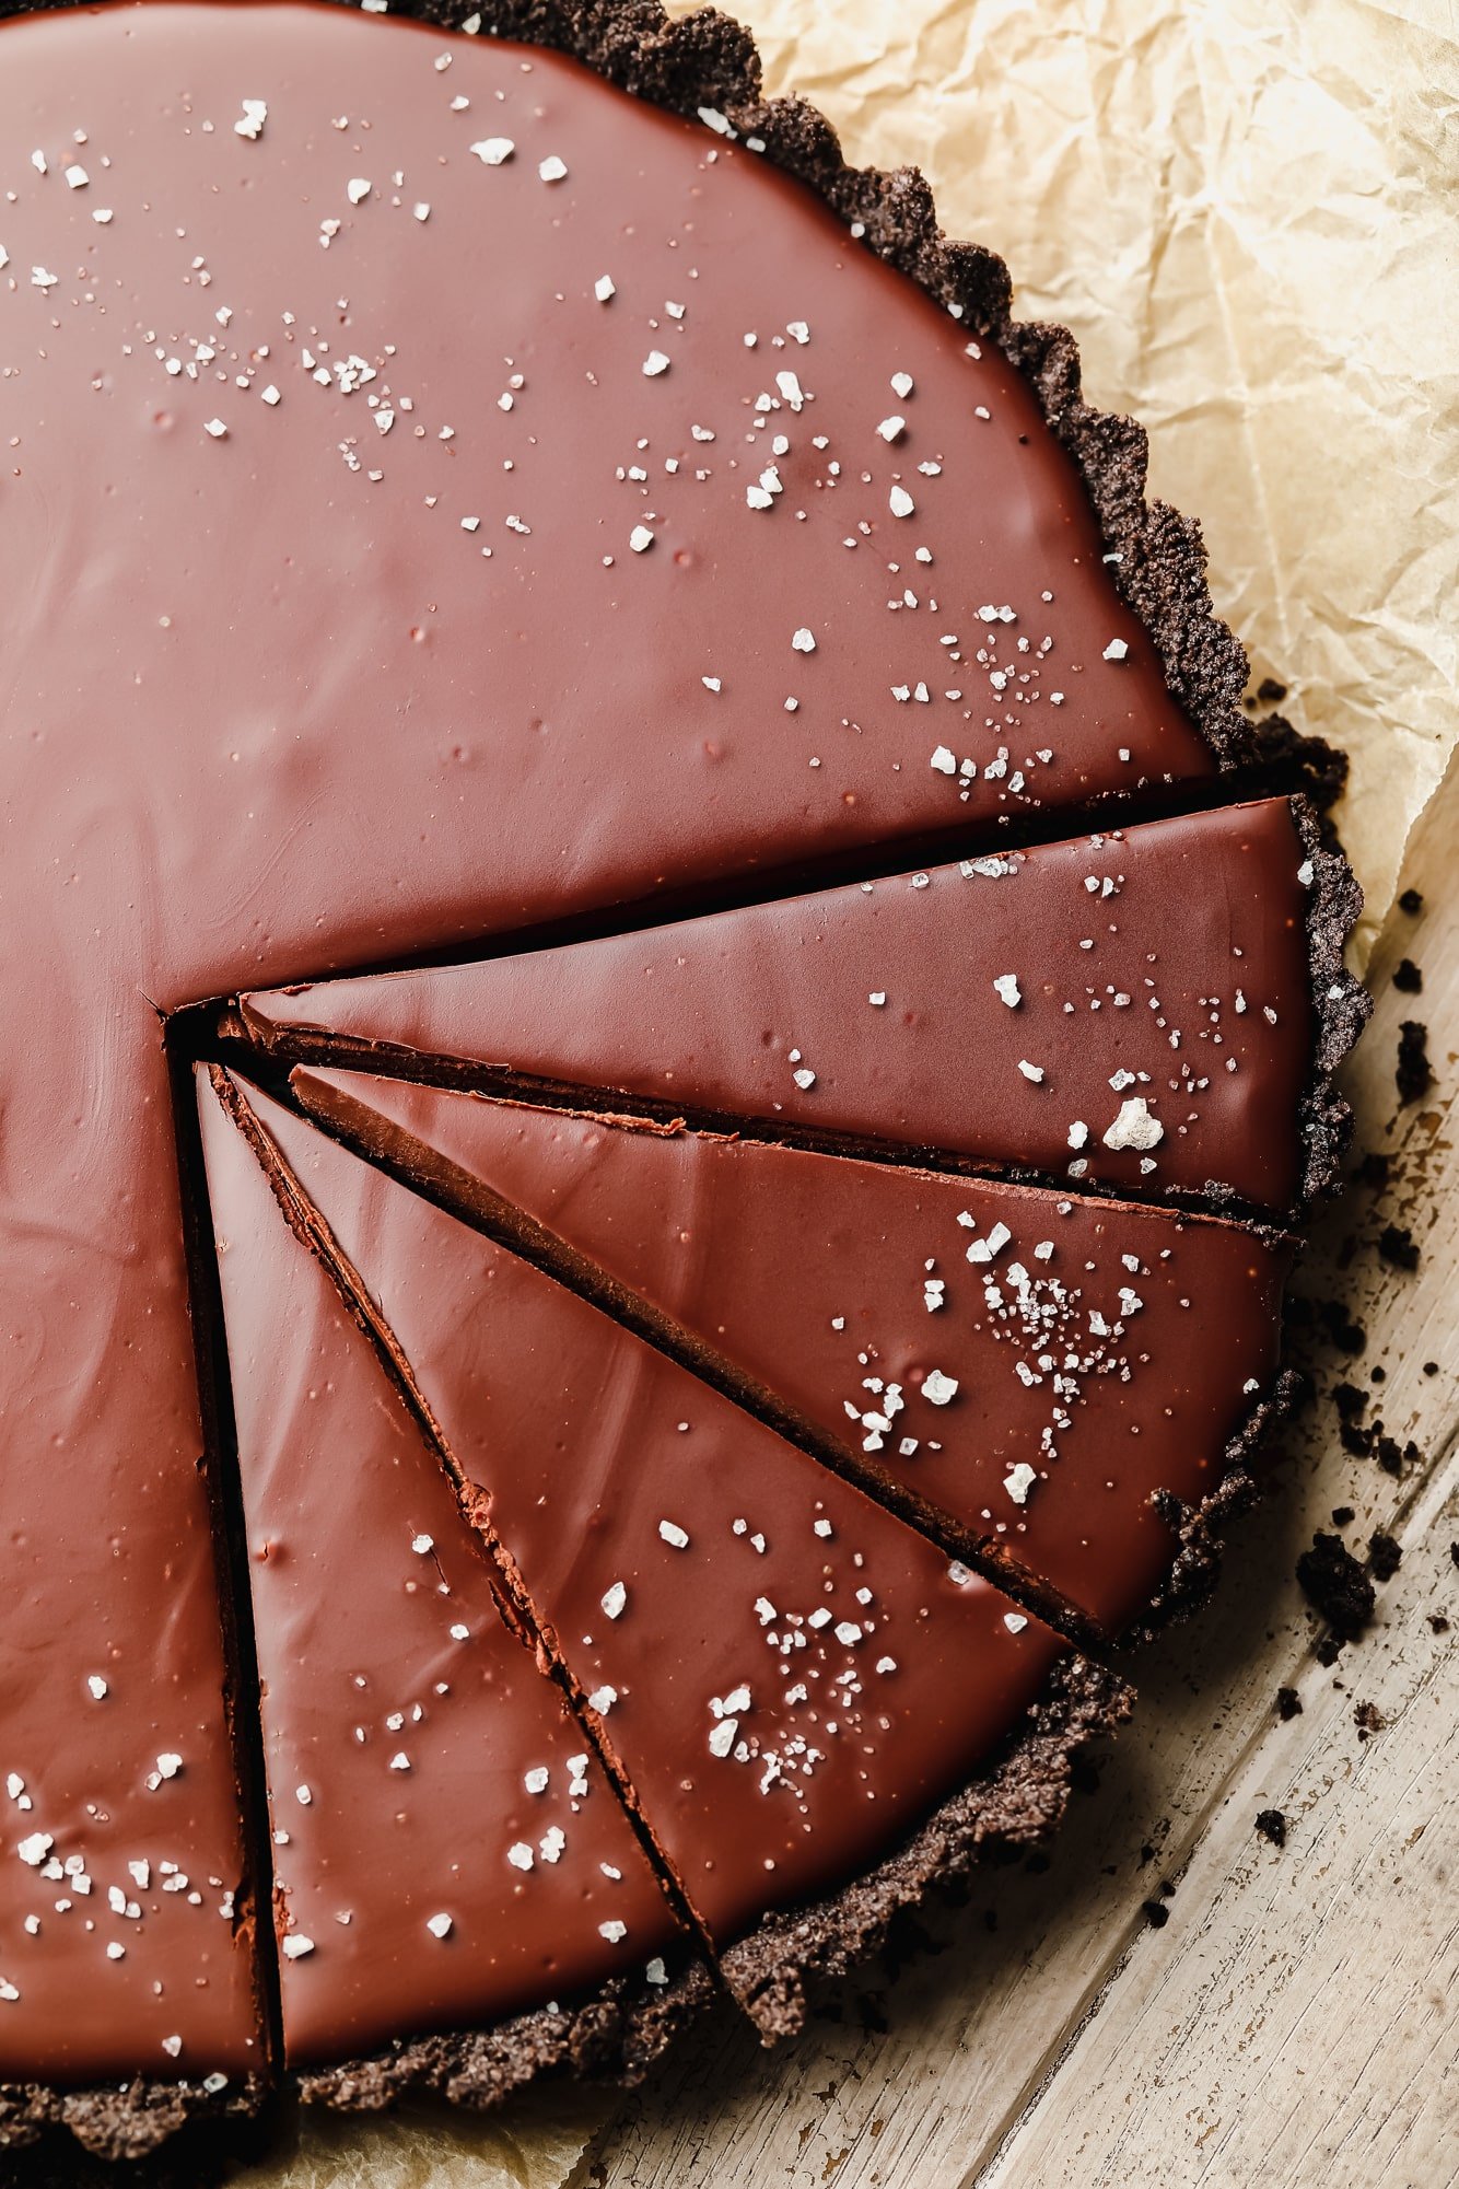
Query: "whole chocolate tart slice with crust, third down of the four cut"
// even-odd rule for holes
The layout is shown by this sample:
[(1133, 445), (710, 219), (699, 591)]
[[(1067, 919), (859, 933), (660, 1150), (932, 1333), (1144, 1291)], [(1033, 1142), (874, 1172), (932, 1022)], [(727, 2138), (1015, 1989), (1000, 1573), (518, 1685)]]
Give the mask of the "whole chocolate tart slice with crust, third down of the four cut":
[(1127, 1690), (643, 1337), (249, 1103), (761, 2029), (932, 1880), (1046, 1834)]

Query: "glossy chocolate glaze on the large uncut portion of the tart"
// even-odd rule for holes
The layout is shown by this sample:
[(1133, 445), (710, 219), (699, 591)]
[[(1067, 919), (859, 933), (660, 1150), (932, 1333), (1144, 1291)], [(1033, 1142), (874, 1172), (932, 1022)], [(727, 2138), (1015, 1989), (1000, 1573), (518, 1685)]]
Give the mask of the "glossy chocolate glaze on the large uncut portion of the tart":
[[(540, 53), (234, 0), (7, 22), (0, 147), (0, 2080), (232, 2077), (157, 1009), (1212, 760), (1019, 377), (707, 129)], [(892, 698), (923, 679), (965, 698)], [(37, 1830), (96, 1913), (15, 1854)]]

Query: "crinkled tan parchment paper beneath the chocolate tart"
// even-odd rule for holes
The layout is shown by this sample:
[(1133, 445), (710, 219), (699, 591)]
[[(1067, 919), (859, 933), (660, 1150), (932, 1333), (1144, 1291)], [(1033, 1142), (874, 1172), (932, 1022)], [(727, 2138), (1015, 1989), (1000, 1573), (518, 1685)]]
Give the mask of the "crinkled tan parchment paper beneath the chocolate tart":
[[(682, 9), (680, 9), (682, 11)], [(1363, 948), (1459, 731), (1459, 22), (1444, 0), (737, 0), (774, 90), (1081, 339), (1216, 606), (1352, 755)], [(560, 2189), (608, 2101), (346, 2123), (249, 2189)]]

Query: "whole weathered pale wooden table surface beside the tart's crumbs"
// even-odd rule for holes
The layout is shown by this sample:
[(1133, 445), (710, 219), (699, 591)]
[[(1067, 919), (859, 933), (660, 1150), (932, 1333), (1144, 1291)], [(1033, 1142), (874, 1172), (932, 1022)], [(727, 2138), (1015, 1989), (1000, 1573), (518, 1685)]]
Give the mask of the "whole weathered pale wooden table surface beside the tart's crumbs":
[[(1391, 1158), (1315, 1228), (1297, 1289), (1341, 1298), (1361, 1357), (1234, 1532), (1194, 1622), (1131, 1664), (1140, 1705), (1046, 1865), (989, 1872), (875, 1990), (761, 2053), (733, 2014), (610, 2121), (573, 2189), (1446, 2189), (1459, 2185), (1459, 779), (1420, 825), (1345, 1084), (1356, 1149)], [(1391, 970), (1413, 957), (1424, 994)], [(1398, 1024), (1435, 1086), (1398, 1108)], [(1376, 1252), (1407, 1224), (1420, 1267)], [(1435, 1364), (1426, 1373), (1426, 1364)], [(1420, 1458), (1343, 1451), (1326, 1392)], [(1332, 1508), (1402, 1563), (1334, 1666), (1293, 1567)], [(1452, 1631), (1444, 1626), (1452, 1620)], [(1282, 1723), (1275, 1690), (1302, 1714)], [(1361, 1736), (1358, 1703), (1380, 1731)], [(1286, 1845), (1256, 1815), (1286, 1815)], [(1146, 1904), (1168, 1911), (1151, 1922)]]

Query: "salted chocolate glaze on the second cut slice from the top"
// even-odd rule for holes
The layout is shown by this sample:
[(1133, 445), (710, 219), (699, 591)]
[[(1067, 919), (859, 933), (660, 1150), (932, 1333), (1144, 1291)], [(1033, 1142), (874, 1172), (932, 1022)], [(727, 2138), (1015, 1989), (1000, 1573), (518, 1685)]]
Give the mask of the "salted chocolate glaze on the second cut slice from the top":
[(1291, 1243), (1236, 1224), (376, 1075), (293, 1088), (475, 1173), (1116, 1633), (1177, 1550), (1153, 1493), (1199, 1506), (1277, 1375)]

